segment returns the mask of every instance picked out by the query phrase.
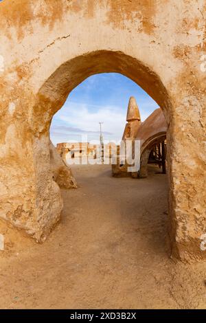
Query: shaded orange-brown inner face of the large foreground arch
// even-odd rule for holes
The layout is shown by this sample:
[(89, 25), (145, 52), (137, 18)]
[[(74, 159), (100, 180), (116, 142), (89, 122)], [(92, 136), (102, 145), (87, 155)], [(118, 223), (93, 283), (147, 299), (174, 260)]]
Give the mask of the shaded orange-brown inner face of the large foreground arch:
[[(49, 160), (47, 160), (49, 126), (52, 122), (52, 117), (54, 113), (62, 107), (69, 92), (80, 84), (82, 80), (93, 74), (105, 72), (121, 73), (137, 82), (138, 85), (148, 91), (148, 93), (161, 104), (167, 120), (170, 120), (171, 102), (168, 91), (163, 86), (159, 76), (157, 76), (154, 71), (151, 71), (149, 67), (146, 67), (143, 63), (139, 62), (139, 60), (128, 56), (123, 52), (101, 50), (86, 53), (60, 65), (60, 67), (49, 76), (36, 94), (35, 104), (32, 108), (31, 115), (31, 128), (36, 137), (36, 186), (38, 187), (38, 194), (40, 194), (40, 201), (45, 199), (45, 201), (51, 205), (51, 208), (48, 209), (49, 214), (51, 214), (51, 212), (54, 214), (54, 216), (49, 217), (48, 211), (43, 208), (42, 216), (47, 219), (47, 223), (45, 223), (47, 229), (40, 228), (40, 239), (47, 236), (47, 232), (49, 232), (54, 223), (58, 221), (62, 208), (62, 205), (60, 205), (59, 212), (56, 212), (56, 208), (54, 211), (52, 210), (54, 194), (57, 197), (57, 203), (59, 203), (56, 186), (54, 186), (54, 182), (52, 181), (49, 172)], [(54, 186), (52, 199), (50, 199), (49, 194), (47, 194), (48, 186), (50, 192)]]

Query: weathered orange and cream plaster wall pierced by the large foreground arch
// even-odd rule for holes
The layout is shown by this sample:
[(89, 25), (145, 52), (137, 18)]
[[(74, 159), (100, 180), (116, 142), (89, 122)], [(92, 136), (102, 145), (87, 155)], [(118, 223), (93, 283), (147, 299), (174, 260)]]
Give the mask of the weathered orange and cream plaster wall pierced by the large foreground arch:
[(4, 0), (0, 4), (0, 216), (37, 241), (62, 202), (49, 172), (49, 125), (87, 76), (120, 72), (168, 122), (170, 236), (205, 256), (205, 0)]

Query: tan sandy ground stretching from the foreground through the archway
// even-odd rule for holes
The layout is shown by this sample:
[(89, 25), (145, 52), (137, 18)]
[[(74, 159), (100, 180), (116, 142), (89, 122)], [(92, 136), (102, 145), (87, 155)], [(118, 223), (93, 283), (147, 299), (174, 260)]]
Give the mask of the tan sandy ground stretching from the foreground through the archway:
[(1, 309), (206, 307), (206, 265), (168, 256), (166, 175), (111, 177), (110, 166), (73, 166), (62, 221), (43, 245), (5, 223)]

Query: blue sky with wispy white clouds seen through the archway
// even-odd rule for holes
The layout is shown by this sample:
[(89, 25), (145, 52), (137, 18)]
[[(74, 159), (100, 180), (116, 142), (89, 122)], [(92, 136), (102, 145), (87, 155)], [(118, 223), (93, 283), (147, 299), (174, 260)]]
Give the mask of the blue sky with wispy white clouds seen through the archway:
[(104, 141), (119, 142), (126, 124), (130, 96), (135, 96), (144, 121), (157, 103), (135, 82), (122, 74), (90, 76), (69, 94), (63, 107), (54, 115), (50, 137), (58, 142), (99, 141), (102, 125)]

